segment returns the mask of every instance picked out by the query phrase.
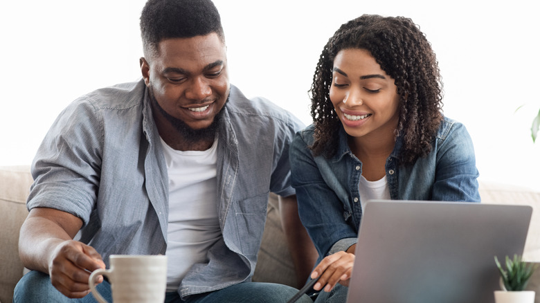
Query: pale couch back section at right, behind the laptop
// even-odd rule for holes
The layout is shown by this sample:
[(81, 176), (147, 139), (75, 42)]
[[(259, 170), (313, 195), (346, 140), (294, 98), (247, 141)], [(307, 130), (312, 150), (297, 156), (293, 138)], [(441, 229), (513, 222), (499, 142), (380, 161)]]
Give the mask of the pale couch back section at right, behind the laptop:
[(480, 197), (482, 203), (532, 206), (523, 259), (540, 262), (540, 192), (526, 187), (480, 181)]

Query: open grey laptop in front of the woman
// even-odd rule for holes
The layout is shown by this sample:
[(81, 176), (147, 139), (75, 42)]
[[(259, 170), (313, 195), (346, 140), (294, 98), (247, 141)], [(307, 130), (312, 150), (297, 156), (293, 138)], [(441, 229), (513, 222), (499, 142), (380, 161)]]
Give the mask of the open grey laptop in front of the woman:
[(347, 302), (494, 302), (494, 256), (523, 254), (531, 215), (525, 205), (369, 201)]

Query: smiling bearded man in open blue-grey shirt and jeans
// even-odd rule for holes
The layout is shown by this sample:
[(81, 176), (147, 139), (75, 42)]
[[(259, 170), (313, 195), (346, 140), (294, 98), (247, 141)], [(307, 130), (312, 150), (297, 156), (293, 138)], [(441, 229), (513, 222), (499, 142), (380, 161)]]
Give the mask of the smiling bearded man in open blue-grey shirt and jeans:
[(143, 79), (75, 100), (39, 147), (14, 301), (92, 302), (89, 274), (122, 254), (169, 256), (167, 302), (287, 301), (295, 288), (250, 281), (269, 191), (296, 205), (302, 125), (229, 84), (210, 0), (150, 0), (141, 33)]

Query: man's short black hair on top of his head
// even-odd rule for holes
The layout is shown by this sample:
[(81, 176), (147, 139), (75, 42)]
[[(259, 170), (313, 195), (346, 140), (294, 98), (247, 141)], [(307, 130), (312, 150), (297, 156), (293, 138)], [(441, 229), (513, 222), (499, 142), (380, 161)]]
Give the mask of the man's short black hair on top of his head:
[(217, 33), (225, 43), (221, 18), (210, 0), (149, 0), (141, 13), (145, 57), (157, 51), (159, 42)]

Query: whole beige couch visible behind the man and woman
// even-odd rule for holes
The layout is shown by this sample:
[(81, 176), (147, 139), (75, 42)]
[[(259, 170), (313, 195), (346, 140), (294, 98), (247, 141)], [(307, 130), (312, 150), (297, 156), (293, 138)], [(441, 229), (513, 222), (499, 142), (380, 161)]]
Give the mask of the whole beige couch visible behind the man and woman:
[[(0, 167), (0, 302), (3, 303), (12, 301), (13, 288), (23, 275), (17, 241), (19, 228), (28, 214), (25, 202), (31, 183), (28, 166)], [(533, 218), (523, 257), (528, 261), (540, 261), (540, 192), (481, 183), (480, 195), (483, 203), (532, 205)], [(267, 225), (253, 279), (287, 285), (294, 285), (296, 281), (274, 196), (269, 201)], [(540, 302), (540, 270), (528, 288), (537, 291), (536, 302)]]

